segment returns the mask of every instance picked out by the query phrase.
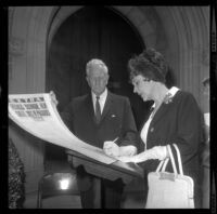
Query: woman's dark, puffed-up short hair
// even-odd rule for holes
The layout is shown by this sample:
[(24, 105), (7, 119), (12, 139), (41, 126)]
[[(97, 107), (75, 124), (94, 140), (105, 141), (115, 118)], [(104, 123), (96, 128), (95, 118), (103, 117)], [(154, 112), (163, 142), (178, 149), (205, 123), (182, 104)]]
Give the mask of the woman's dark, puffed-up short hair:
[(135, 76), (142, 75), (149, 80), (165, 83), (168, 64), (159, 52), (154, 49), (146, 49), (129, 59), (128, 69), (130, 80)]

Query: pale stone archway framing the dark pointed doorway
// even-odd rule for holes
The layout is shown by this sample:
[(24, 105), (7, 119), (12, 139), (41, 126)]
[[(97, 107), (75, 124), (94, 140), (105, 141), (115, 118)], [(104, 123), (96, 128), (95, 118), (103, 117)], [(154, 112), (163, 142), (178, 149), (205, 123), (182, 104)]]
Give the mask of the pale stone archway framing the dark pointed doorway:
[[(209, 71), (208, 6), (112, 6), (140, 34), (146, 46), (163, 52), (176, 83), (202, 106), (201, 81)], [(47, 50), (55, 30), (80, 6), (9, 8), (9, 93), (46, 90)], [(42, 144), (17, 129), (10, 130), (25, 163), (27, 191), (43, 172)], [(31, 176), (37, 173), (38, 176)]]

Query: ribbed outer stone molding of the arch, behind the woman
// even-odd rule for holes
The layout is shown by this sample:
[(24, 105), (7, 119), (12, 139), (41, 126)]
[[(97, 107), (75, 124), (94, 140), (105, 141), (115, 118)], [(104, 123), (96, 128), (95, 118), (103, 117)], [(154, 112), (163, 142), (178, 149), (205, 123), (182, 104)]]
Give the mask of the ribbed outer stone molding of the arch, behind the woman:
[(203, 106), (201, 81), (209, 70), (209, 8), (155, 6), (169, 41), (163, 53), (177, 77), (177, 85), (194, 94)]

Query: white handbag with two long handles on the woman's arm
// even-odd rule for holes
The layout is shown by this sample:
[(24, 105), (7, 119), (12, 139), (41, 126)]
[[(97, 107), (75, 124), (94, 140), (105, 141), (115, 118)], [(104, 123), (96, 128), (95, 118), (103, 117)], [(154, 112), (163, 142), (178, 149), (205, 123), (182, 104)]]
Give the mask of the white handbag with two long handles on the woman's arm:
[[(168, 145), (169, 158), (161, 161), (156, 172), (151, 172), (148, 175), (146, 209), (194, 209), (193, 179), (190, 176), (183, 175), (179, 149), (176, 144), (173, 144), (173, 146), (178, 157), (179, 174), (171, 148)], [(171, 161), (174, 173), (165, 172), (169, 160)]]

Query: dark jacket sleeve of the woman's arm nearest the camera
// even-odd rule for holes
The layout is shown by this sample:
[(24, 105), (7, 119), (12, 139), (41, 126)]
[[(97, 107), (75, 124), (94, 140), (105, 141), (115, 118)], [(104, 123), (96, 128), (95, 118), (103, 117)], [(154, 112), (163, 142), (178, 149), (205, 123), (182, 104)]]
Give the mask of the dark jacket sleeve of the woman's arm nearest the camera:
[[(179, 147), (182, 163), (199, 152), (202, 142), (202, 113), (192, 94), (186, 93), (178, 105), (177, 134), (171, 143)], [(173, 149), (175, 153), (175, 150)]]

